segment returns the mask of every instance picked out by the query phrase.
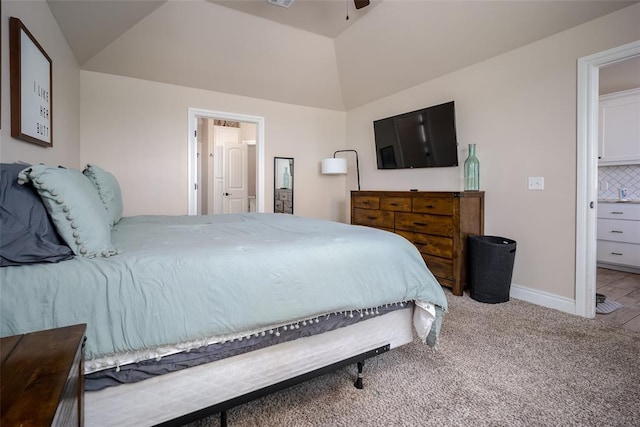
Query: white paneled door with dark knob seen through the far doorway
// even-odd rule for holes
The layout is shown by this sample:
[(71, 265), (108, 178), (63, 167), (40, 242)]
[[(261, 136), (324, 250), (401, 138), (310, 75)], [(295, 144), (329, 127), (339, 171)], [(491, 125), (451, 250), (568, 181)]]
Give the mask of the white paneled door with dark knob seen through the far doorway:
[(216, 126), (214, 129), (215, 162), (215, 213), (248, 212), (247, 146), (240, 142), (240, 129)]

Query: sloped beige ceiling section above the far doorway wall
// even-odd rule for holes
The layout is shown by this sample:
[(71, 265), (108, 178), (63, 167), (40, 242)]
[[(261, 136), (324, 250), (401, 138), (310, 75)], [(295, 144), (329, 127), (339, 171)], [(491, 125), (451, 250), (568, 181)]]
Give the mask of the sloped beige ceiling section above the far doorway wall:
[(203, 0), (164, 3), (83, 69), (344, 110), (332, 39)]

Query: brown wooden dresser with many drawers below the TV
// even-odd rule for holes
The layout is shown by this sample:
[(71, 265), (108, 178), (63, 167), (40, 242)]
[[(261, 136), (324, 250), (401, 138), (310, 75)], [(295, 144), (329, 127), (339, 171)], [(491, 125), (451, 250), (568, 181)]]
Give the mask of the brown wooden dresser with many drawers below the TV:
[(351, 223), (405, 237), (440, 284), (462, 295), (467, 236), (484, 234), (484, 192), (352, 191)]

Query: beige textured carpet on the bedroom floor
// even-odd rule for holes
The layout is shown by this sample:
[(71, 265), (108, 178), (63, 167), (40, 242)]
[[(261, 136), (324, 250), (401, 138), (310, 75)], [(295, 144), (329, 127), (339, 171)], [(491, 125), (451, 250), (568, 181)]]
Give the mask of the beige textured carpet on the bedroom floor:
[[(228, 412), (240, 426), (638, 426), (640, 334), (519, 300), (448, 295), (437, 351), (414, 341)], [(217, 426), (210, 417), (192, 426)]]

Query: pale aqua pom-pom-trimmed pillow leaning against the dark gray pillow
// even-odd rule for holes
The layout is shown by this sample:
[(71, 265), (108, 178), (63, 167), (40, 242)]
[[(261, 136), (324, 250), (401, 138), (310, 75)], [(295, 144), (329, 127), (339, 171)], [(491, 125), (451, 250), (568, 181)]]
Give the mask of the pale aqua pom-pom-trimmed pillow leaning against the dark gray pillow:
[(35, 165), (20, 172), (18, 179), (21, 183), (31, 181), (74, 254), (89, 258), (116, 254), (107, 211), (80, 171)]

